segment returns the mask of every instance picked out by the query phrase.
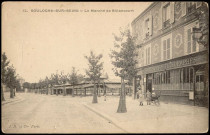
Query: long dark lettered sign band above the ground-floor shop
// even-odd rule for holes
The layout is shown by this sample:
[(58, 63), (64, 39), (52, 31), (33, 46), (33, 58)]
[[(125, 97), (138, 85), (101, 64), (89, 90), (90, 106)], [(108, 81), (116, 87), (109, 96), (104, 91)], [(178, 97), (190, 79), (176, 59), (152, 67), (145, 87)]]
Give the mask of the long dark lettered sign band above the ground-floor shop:
[(184, 58), (180, 60), (170, 61), (170, 62), (160, 64), (160, 65), (144, 67), (141, 70), (143, 70), (143, 72), (147, 74), (147, 73), (159, 72), (159, 71), (164, 71), (164, 70), (169, 70), (169, 69), (174, 69), (174, 68), (181, 68), (181, 67), (199, 64), (202, 62), (207, 62), (206, 58), (207, 58), (206, 55), (188, 57), (188, 58)]

